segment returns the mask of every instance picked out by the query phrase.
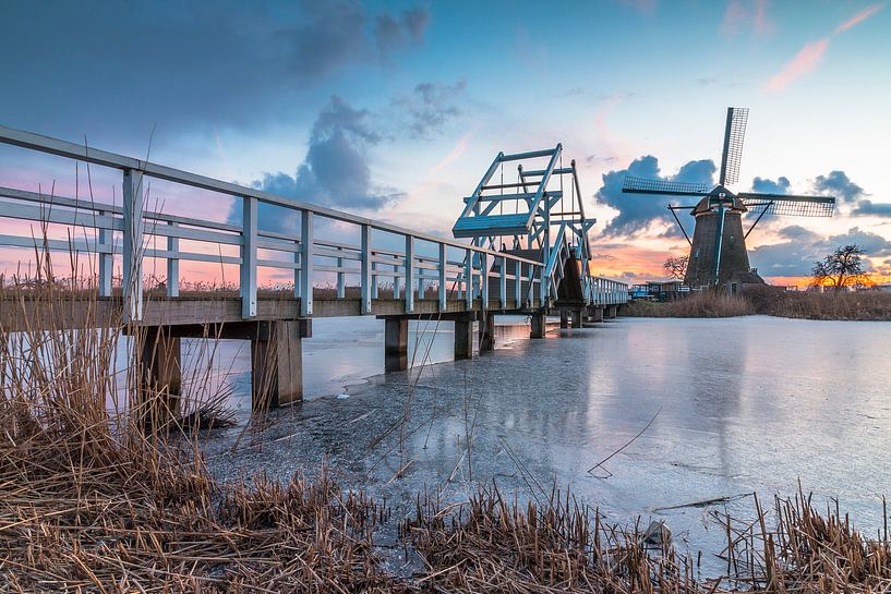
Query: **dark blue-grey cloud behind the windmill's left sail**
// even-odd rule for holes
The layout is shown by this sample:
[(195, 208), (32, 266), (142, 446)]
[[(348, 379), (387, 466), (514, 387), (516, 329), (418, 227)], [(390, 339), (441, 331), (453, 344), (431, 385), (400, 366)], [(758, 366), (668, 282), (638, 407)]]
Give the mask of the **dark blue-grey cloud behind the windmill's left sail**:
[[(630, 174), (651, 180), (711, 184), (714, 180), (715, 170), (712, 160), (703, 159), (685, 163), (674, 175), (662, 177), (659, 174), (659, 159), (652, 155), (647, 155), (631, 161), (627, 169), (604, 173), (603, 185), (595, 194), (597, 201), (619, 211), (618, 216), (605, 227), (604, 233), (607, 235), (629, 235), (647, 229), (653, 221), (671, 220), (671, 216), (665, 209), (670, 197), (624, 194), (622, 184), (626, 175)], [(691, 197), (685, 201), (685, 204), (695, 204), (695, 197)], [(681, 232), (673, 226), (667, 234), (679, 237)]]

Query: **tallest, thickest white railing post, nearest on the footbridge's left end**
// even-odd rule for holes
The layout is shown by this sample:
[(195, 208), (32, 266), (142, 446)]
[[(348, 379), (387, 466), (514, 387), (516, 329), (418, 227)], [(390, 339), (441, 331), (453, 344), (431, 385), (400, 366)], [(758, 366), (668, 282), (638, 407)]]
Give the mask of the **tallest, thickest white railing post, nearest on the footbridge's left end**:
[(123, 172), (123, 319), (142, 319), (142, 171)]

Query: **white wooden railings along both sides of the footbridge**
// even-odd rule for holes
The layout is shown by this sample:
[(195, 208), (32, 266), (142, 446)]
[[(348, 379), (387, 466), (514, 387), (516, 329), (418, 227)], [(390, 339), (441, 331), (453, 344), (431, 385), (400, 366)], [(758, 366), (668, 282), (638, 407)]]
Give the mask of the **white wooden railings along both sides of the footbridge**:
[[(122, 255), (122, 295), (124, 317), (140, 320), (143, 315), (143, 259), (164, 258), (167, 262), (166, 290), (170, 298), (179, 296), (180, 260), (233, 264), (240, 270), (242, 317), (257, 314), (258, 268), (292, 270), (294, 296), (300, 299), (300, 315), (313, 315), (313, 286), (322, 275), (336, 278), (336, 295), (346, 298), (347, 276), (359, 278), (360, 311), (372, 312), (377, 299), (378, 279), (392, 279), (394, 299), (405, 301), (405, 312), (416, 311), (416, 294), (424, 298), (425, 286), (436, 286), (437, 308), (448, 310), (449, 300), (465, 302), (466, 310), (489, 306), (486, 296), (490, 277), (499, 286), (499, 306), (507, 307), (513, 300), (516, 308), (531, 308), (533, 296), (550, 291), (542, 287), (544, 265), (539, 262), (485, 250), (467, 243), (445, 240), (435, 235), (404, 229), (385, 222), (358, 217), (340, 210), (291, 201), (252, 187), (241, 186), (204, 175), (181, 171), (105, 150), (0, 126), (0, 142), (39, 153), (57, 155), (82, 162), (117, 169), (122, 175), (122, 205), (100, 204), (70, 197), (49, 196), (23, 190), (0, 187), (0, 218), (73, 226), (87, 233), (72, 233), (71, 239), (50, 239), (34, 235), (0, 234), (0, 245), (75, 251), (96, 254), (98, 259), (98, 290), (100, 296), (110, 296), (112, 290), (113, 256)], [(145, 208), (143, 180), (152, 178), (184, 186), (207, 190), (241, 201), (242, 225), (198, 220), (156, 213)], [(300, 214), (300, 234), (292, 237), (257, 228), (260, 203), (272, 204)], [(349, 244), (316, 238), (316, 218), (340, 221), (359, 228), (359, 244)], [(381, 231), (404, 242), (404, 250), (384, 250), (372, 245), (372, 232)], [(116, 233), (121, 238), (116, 241)], [(160, 247), (157, 240), (161, 240)], [(218, 254), (190, 252), (180, 248), (180, 240), (204, 242), (220, 247)], [(417, 247), (432, 244), (434, 256), (417, 253)], [(222, 246), (237, 246), (239, 255), (221, 255)], [(275, 257), (260, 257), (276, 254)], [(508, 266), (509, 262), (515, 265)], [(498, 264), (493, 272), (493, 265)], [(516, 274), (507, 274), (507, 270)], [(507, 280), (516, 280), (514, 295), (507, 294)], [(401, 286), (401, 287), (400, 287)], [(545, 280), (545, 287), (547, 281)], [(594, 278), (589, 287), (589, 303), (613, 304), (627, 301), (627, 286), (607, 279)], [(624, 296), (624, 299), (623, 299)], [(483, 299), (481, 299), (483, 298)], [(540, 302), (539, 305), (546, 303)]]

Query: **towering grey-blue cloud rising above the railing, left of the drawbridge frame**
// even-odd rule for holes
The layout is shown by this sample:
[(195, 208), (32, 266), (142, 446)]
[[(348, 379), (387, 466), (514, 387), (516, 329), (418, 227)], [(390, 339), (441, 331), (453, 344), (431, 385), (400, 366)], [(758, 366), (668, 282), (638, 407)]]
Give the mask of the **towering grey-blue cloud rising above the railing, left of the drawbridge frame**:
[[(318, 112), (306, 156), (297, 172), (266, 173), (251, 185), (300, 202), (376, 210), (402, 197), (400, 192), (372, 183), (366, 151), (381, 140), (381, 134), (369, 124), (368, 110), (353, 109), (335, 95)], [(240, 218), (240, 213), (230, 213), (230, 220)], [(262, 229), (293, 231), (296, 222), (297, 217), (284, 209), (261, 205)]]

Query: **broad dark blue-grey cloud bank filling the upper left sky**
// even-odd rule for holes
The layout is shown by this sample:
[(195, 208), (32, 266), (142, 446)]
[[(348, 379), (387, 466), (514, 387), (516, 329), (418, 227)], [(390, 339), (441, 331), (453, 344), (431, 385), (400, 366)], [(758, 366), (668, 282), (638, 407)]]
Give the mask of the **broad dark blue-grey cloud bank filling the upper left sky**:
[(426, 10), (371, 14), (353, 0), (10, 3), (0, 111), (17, 128), (141, 140), (153, 124), (284, 118), (318, 100), (320, 81), (417, 45), (428, 22)]

